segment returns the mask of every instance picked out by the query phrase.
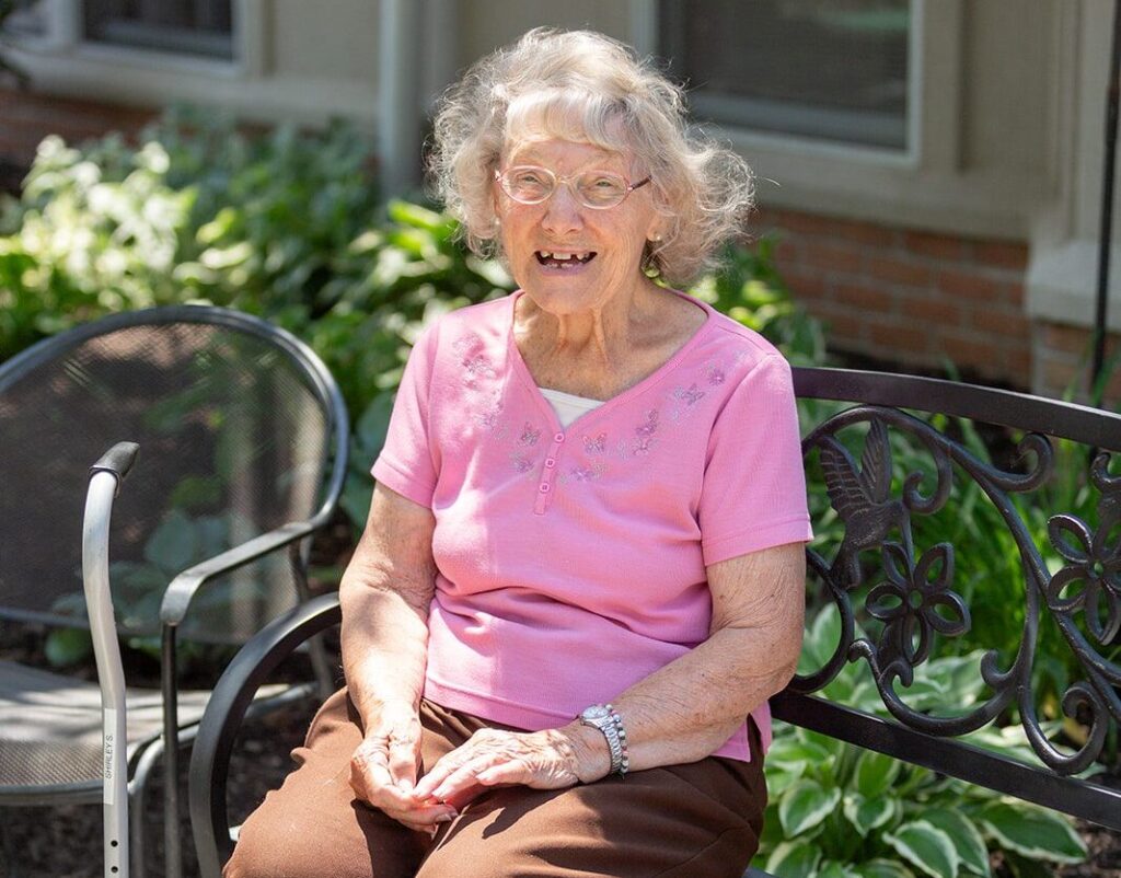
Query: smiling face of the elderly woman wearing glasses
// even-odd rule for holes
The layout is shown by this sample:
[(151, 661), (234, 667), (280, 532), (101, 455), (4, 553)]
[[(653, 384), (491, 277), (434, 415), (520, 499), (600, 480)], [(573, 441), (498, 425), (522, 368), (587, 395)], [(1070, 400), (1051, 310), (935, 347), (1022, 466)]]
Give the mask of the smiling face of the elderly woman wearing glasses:
[[(499, 169), (519, 165), (547, 168), (558, 177), (611, 172), (632, 184), (645, 176), (624, 154), (571, 140), (512, 144)], [(643, 283), (643, 247), (664, 224), (652, 187), (634, 190), (606, 210), (584, 206), (559, 182), (540, 204), (515, 201), (497, 182), (494, 197), (510, 271), (544, 311), (557, 316), (599, 311)]]

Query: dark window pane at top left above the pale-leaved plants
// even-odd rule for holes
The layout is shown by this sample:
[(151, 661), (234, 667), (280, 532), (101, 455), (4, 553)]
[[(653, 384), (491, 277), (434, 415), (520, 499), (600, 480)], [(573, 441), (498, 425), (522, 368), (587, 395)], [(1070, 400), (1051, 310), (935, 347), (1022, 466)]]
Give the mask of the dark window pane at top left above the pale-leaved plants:
[(85, 0), (86, 41), (233, 61), (232, 0)]

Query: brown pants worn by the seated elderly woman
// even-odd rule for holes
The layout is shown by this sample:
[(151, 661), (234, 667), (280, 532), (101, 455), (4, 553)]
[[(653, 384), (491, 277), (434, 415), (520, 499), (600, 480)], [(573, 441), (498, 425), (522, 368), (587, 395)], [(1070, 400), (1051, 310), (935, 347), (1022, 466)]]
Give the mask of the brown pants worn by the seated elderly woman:
[[(488, 724), (429, 702), (421, 722), (427, 766)], [(710, 757), (567, 789), (497, 788), (429, 839), (355, 801), (350, 757), (361, 738), (341, 690), (293, 751), (297, 769), (247, 820), (226, 878), (739, 878), (759, 843), (761, 758)]]

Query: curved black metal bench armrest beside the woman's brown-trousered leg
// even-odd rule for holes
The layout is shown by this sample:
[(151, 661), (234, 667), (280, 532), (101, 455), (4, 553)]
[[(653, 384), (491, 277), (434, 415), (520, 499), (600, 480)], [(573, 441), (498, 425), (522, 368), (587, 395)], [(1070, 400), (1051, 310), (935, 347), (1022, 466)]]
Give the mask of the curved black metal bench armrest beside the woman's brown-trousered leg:
[(300, 644), (341, 620), (337, 594), (293, 608), (248, 640), (214, 686), (198, 723), (188, 775), (191, 825), (203, 876), (217, 878), (233, 852), (225, 784), (233, 742), (253, 694)]

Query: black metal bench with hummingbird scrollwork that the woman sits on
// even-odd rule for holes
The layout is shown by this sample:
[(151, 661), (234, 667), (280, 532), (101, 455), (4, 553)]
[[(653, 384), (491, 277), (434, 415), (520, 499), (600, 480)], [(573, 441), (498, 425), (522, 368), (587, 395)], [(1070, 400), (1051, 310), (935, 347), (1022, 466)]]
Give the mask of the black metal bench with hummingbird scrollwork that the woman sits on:
[[(822, 667), (796, 677), (772, 700), (775, 714), (787, 722), (1121, 830), (1121, 792), (1076, 776), (1101, 754), (1106, 729), (1111, 723), (1117, 725), (1121, 672), (1106, 658), (1111, 647), (1099, 644), (1094, 648), (1080, 632), (1081, 620), (1056, 594), (1040, 558), (1044, 547), (1034, 544), (1013, 499), (1036, 491), (1055, 474), (1054, 443), (1049, 437), (1067, 437), (1084, 446), (1121, 451), (1121, 416), (936, 379), (842, 369), (803, 368), (794, 372), (799, 399), (819, 408), (813, 413), (812, 423), (804, 425), (807, 435), (803, 449), (807, 466), (822, 468), (828, 493), (827, 498), (812, 498), (815, 527), (823, 535), (832, 535), (807, 547), (807, 597), (812, 603), (837, 607), (841, 638)], [(924, 419), (920, 413), (935, 417)], [(1013, 451), (1026, 458), (1026, 462), (1010, 462), (1008, 469), (1002, 469), (979, 461), (956, 432), (955, 418), (1022, 432), (1026, 437)], [(896, 442), (911, 442), (927, 455), (926, 466), (916, 472), (897, 471), (891, 453)], [(1074, 462), (1082, 465), (1086, 461), (1083, 449)], [(916, 665), (936, 657), (932, 639), (924, 636), (923, 647), (914, 646), (924, 625), (934, 627), (929, 618), (919, 618), (921, 613), (917, 610), (908, 616), (914, 609), (910, 604), (914, 595), (900, 598), (899, 623), (884, 626), (878, 639), (862, 636), (854, 621), (868, 619), (865, 599), (869, 586), (877, 582), (873, 571), (883, 569), (877, 556), (890, 554), (900, 569), (915, 570), (917, 556), (932, 548), (923, 544), (919, 520), (960, 515), (956, 490), (970, 482), (999, 510), (1001, 526), (1018, 546), (1023, 588), (1020, 594), (1010, 594), (1009, 601), (1022, 601), (1026, 609), (1023, 630), (1017, 631), (1022, 634), (1022, 645), (1008, 659), (1008, 667), (993, 655), (986, 659), (992, 667), (978, 668), (979, 674), (986, 675), (984, 678), (992, 688), (986, 701), (966, 714), (939, 718), (907, 705), (909, 674)], [(1102, 496), (1099, 527), (1109, 530), (1121, 519), (1121, 477), (1110, 477), (1104, 459), (1100, 458), (1092, 468), (1092, 482)], [(831, 520), (840, 524), (831, 525)], [(933, 551), (953, 558), (954, 549), (948, 544)], [(961, 580), (969, 579), (970, 567), (976, 561), (957, 560)], [(943, 582), (947, 600), (964, 603), (956, 593), (948, 597), (956, 588), (953, 569), (953, 563), (947, 564)], [(925, 567), (919, 565), (919, 570)], [(914, 588), (920, 591), (927, 584), (916, 582)], [(993, 608), (974, 609), (980, 612)], [(1009, 618), (1007, 607), (997, 611), (1001, 619)], [(1076, 682), (1068, 694), (1069, 709), (1088, 706), (1093, 717), (1092, 733), (1074, 756), (1060, 755), (1048, 742), (1032, 704), (1035, 641), (1045, 614), (1063, 629), (1072, 655), (1088, 681)], [(969, 612), (963, 616), (963, 625), (954, 627), (948, 636), (958, 636), (969, 628)], [(234, 737), (252, 693), (286, 655), (306, 638), (336, 625), (340, 618), (336, 595), (323, 595), (296, 608), (247, 644), (215, 686), (200, 723), (189, 771), (192, 830), (200, 868), (206, 878), (216, 878), (233, 852), (225, 785)], [(900, 631), (902, 637), (897, 636)], [(851, 660), (871, 667), (893, 720), (831, 702), (823, 695), (822, 690)], [(997, 673), (998, 667), (1001, 673)], [(960, 740), (1010, 705), (1020, 709), (1039, 765), (1013, 761)], [(751, 869), (749, 875), (765, 874)]]

